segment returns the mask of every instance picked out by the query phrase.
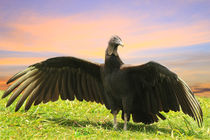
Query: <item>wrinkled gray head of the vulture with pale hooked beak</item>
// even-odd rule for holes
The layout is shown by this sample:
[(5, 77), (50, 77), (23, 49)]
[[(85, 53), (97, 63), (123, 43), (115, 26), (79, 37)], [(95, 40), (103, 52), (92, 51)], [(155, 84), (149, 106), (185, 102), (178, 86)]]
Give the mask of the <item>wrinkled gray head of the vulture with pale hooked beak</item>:
[(107, 48), (107, 54), (108, 55), (112, 55), (114, 54), (115, 56), (118, 55), (117, 53), (117, 47), (118, 46), (124, 46), (121, 38), (117, 35), (114, 35), (111, 37), (111, 39), (109, 40), (109, 44), (108, 44), (108, 48)]

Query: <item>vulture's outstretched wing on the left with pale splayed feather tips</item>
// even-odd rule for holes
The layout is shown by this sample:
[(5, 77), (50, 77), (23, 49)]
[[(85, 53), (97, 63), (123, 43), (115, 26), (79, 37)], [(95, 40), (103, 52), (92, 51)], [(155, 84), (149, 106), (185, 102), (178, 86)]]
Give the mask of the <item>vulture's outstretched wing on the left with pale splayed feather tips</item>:
[(23, 105), (28, 110), (31, 105), (41, 102), (74, 100), (95, 101), (107, 104), (102, 85), (100, 64), (91, 63), (74, 57), (55, 57), (29, 66), (9, 79), (11, 86), (2, 98), (13, 94), (7, 102), (7, 107), (21, 95), (15, 111)]

